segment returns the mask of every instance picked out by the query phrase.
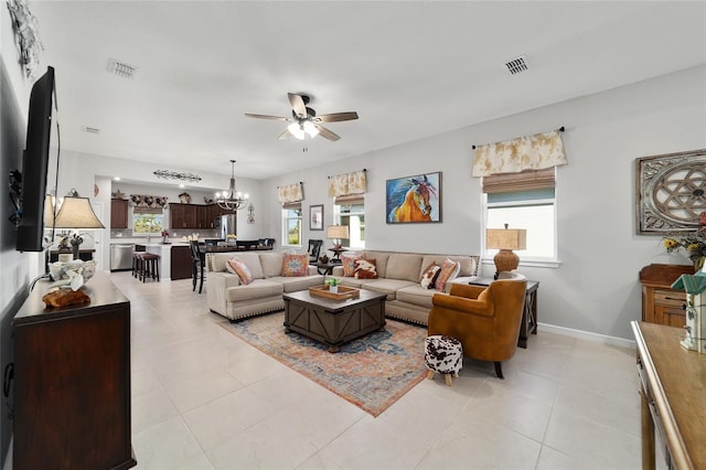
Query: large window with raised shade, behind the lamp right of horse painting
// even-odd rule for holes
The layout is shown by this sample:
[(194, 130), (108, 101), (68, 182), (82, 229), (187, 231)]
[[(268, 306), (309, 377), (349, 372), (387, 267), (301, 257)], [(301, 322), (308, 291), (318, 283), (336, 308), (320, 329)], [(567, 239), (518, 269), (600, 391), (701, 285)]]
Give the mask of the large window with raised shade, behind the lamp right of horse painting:
[[(517, 253), (521, 264), (555, 263), (556, 239), (556, 191), (555, 170), (523, 171), (483, 178), (483, 212), (485, 228), (525, 228), (527, 248)], [(485, 249), (485, 258), (498, 250)]]

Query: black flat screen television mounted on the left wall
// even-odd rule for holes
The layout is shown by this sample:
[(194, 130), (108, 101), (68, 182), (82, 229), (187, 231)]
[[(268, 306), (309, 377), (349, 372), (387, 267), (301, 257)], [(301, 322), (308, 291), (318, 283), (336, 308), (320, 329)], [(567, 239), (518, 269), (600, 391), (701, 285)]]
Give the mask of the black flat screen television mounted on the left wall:
[(44, 250), (44, 196), (53, 98), (54, 68), (46, 67), (46, 73), (34, 83), (30, 94), (26, 147), (22, 157), (21, 220), (15, 245), (19, 252)]

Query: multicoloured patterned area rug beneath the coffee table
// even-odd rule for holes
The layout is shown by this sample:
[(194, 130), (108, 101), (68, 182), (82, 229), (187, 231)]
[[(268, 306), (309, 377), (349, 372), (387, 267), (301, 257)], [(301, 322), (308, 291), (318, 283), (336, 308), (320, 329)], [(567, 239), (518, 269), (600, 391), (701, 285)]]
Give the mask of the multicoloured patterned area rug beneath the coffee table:
[(298, 333), (285, 333), (285, 313), (223, 323), (223, 328), (288, 367), (378, 416), (424, 380), (427, 329), (387, 319), (375, 331), (341, 346), (327, 346)]

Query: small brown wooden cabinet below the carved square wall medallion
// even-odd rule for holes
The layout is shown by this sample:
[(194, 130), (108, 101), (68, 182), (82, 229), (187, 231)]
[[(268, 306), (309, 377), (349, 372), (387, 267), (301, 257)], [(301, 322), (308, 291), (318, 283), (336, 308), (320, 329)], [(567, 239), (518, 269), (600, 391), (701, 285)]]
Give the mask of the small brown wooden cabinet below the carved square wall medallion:
[(686, 324), (686, 293), (672, 289), (683, 274), (694, 274), (693, 266), (649, 265), (640, 270), (642, 284), (642, 321), (682, 328)]

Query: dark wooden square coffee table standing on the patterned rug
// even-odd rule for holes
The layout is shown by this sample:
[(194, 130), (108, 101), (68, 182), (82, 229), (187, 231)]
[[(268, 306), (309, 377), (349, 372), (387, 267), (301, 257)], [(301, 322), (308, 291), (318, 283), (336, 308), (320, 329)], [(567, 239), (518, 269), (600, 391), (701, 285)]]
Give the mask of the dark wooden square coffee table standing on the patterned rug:
[(357, 299), (333, 300), (308, 290), (282, 295), (285, 332), (297, 332), (339, 352), (342, 344), (385, 328), (385, 295), (361, 289)]

